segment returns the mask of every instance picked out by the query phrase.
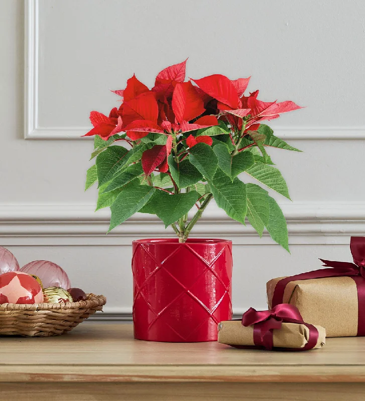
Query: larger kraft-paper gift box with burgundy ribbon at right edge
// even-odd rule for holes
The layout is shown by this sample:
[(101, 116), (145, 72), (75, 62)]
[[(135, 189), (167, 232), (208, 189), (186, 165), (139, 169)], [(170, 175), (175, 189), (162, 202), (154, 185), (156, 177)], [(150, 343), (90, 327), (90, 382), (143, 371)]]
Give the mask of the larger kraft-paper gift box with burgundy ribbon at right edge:
[(351, 237), (350, 250), (354, 263), (320, 259), (328, 269), (270, 280), (269, 309), (286, 302), (327, 337), (364, 336), (365, 237)]

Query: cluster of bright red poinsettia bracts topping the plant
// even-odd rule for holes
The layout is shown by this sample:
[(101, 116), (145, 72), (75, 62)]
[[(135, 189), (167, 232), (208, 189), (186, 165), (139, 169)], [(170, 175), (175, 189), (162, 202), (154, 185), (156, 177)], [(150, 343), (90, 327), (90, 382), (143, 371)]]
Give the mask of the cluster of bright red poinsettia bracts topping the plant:
[[(108, 117), (97, 111), (90, 113), (93, 128), (85, 136), (99, 135), (107, 140), (124, 131), (138, 143), (151, 132), (167, 135), (166, 145), (155, 145), (142, 155), (143, 170), (149, 175), (154, 170), (168, 171), (172, 136), (218, 125), (218, 118), (228, 122), (233, 132), (245, 124), (247, 133), (258, 129), (263, 120), (301, 108), (291, 101), (258, 100), (259, 91), (245, 96), (250, 77), (230, 80), (214, 74), (184, 82), (185, 70), (186, 60), (163, 69), (151, 90), (133, 75), (125, 89), (113, 91), (122, 100), (118, 109), (114, 107)], [(179, 140), (185, 141), (186, 147), (199, 142), (212, 145), (212, 138), (206, 135), (189, 135), (186, 140)]]

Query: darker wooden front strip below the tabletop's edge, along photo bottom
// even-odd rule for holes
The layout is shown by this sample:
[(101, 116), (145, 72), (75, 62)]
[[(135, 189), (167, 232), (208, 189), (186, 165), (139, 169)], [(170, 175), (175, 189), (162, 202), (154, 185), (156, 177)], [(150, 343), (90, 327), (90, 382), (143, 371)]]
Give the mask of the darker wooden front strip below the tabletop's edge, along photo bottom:
[(363, 401), (363, 383), (2, 383), (2, 401)]

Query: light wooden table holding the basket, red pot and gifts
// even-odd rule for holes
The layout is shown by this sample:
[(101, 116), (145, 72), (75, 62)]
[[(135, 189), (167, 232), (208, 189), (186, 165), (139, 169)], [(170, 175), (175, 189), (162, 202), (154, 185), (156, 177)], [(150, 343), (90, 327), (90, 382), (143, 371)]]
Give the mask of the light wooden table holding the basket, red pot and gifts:
[(356, 401), (365, 399), (364, 356), (365, 337), (271, 352), (138, 341), (130, 324), (84, 323), (57, 337), (0, 337), (0, 399), (15, 399), (16, 392), (30, 401), (45, 393), (58, 401)]

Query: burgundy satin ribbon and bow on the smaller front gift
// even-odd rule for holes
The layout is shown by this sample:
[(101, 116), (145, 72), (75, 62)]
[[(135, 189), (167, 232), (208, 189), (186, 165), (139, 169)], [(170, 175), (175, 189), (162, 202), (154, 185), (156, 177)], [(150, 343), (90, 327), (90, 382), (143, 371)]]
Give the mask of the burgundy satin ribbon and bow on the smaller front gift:
[(272, 310), (257, 311), (250, 308), (242, 316), (242, 325), (254, 325), (254, 344), (266, 349), (273, 348), (273, 330), (279, 330), (282, 323), (304, 324), (309, 329), (307, 344), (302, 348), (291, 348), (296, 351), (306, 351), (315, 347), (318, 341), (318, 330), (311, 324), (305, 323), (294, 305), (280, 304)]

